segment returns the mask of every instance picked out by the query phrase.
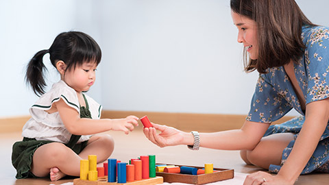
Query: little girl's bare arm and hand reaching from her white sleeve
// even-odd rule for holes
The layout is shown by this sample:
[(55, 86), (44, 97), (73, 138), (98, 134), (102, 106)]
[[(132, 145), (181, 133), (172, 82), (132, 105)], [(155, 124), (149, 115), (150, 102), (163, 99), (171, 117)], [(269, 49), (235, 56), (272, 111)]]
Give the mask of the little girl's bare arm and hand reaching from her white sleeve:
[(66, 129), (75, 135), (97, 134), (108, 130), (118, 130), (128, 134), (134, 130), (134, 125), (138, 126), (136, 116), (127, 116), (125, 119), (82, 119), (77, 110), (66, 105), (62, 99), (56, 102), (56, 107)]

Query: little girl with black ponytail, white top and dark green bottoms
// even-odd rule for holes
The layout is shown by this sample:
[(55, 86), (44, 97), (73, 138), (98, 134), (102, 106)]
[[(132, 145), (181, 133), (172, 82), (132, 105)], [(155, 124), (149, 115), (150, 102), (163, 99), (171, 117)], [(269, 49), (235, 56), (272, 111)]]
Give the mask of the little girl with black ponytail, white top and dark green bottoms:
[[(60, 73), (60, 82), (45, 93), (43, 56)], [(26, 81), (36, 95), (42, 95), (29, 109), (32, 118), (23, 127), (23, 141), (12, 149), (16, 178), (46, 177), (56, 181), (65, 175), (80, 175), (80, 160), (97, 155), (106, 160), (114, 149), (108, 130), (128, 134), (138, 126), (136, 116), (100, 119), (101, 106), (84, 95), (95, 83), (101, 60), (97, 42), (82, 32), (59, 34), (49, 49), (36, 53), (27, 66)], [(93, 135), (95, 134), (95, 135)]]

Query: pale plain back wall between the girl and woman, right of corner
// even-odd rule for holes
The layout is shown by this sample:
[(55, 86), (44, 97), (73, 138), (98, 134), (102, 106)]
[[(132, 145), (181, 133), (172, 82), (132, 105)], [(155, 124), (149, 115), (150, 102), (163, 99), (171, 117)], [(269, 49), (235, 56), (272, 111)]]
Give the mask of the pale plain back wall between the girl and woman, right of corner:
[[(104, 108), (247, 114), (258, 74), (242, 72), (229, 2), (103, 1)], [(328, 1), (298, 3), (328, 25)]]

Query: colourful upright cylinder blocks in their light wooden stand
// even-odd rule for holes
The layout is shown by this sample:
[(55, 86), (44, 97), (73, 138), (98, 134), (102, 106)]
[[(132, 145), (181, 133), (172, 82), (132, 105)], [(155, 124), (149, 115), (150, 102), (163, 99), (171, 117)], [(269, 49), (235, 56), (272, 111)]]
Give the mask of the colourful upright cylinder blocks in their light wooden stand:
[[(106, 180), (107, 179), (107, 180)], [(141, 156), (129, 164), (110, 158), (97, 167), (97, 156), (80, 161), (80, 179), (73, 184), (162, 184), (163, 178), (156, 177), (156, 156)]]

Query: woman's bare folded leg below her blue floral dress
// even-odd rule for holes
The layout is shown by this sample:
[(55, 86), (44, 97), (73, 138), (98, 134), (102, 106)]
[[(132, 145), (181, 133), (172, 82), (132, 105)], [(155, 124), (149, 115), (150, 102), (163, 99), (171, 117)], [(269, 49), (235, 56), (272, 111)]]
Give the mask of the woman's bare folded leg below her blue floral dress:
[(280, 133), (263, 137), (252, 151), (240, 151), (241, 158), (246, 164), (254, 164), (263, 169), (269, 169), (270, 164), (280, 165), (282, 151), (294, 136), (293, 133)]

